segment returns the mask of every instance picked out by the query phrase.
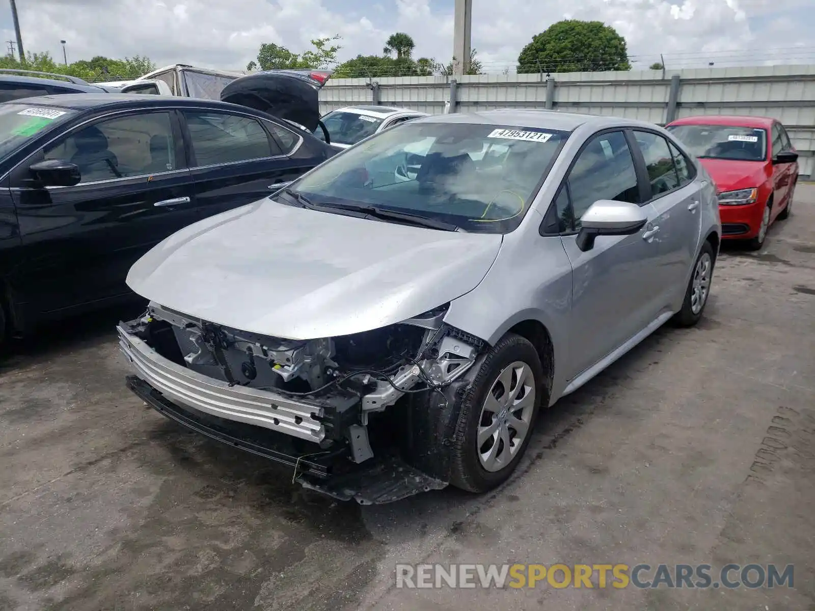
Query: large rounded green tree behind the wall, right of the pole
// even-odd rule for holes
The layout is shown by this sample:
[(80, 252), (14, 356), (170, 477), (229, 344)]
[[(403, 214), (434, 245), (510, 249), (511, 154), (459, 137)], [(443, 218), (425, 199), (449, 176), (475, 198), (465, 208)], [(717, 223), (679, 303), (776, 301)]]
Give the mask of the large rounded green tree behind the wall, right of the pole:
[(518, 55), (518, 73), (630, 69), (625, 38), (601, 21), (558, 21), (532, 37)]

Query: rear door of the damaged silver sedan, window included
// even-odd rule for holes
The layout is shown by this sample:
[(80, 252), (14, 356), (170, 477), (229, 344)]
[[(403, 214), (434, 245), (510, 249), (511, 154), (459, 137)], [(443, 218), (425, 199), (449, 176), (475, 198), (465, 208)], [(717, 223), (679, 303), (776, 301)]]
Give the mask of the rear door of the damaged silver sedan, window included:
[(641, 156), (650, 204), (659, 227), (659, 287), (662, 306), (676, 302), (685, 294), (685, 284), (702, 233), (700, 185), (692, 178), (689, 160), (670, 143), (668, 138), (650, 130), (633, 130), (637, 153)]

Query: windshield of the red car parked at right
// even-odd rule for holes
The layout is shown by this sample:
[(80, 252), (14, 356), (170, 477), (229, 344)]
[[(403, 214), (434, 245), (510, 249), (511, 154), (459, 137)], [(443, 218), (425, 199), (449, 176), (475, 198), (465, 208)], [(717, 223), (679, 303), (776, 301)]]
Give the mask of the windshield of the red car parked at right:
[(764, 161), (767, 156), (767, 132), (760, 128), (736, 125), (671, 125), (667, 128), (703, 159)]

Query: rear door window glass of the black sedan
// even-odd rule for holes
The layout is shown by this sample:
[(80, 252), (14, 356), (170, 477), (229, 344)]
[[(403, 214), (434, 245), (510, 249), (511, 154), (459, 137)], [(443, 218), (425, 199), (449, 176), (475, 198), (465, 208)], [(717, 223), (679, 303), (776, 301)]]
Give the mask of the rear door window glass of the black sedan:
[(185, 111), (196, 165), (221, 165), (280, 155), (259, 121), (226, 112)]

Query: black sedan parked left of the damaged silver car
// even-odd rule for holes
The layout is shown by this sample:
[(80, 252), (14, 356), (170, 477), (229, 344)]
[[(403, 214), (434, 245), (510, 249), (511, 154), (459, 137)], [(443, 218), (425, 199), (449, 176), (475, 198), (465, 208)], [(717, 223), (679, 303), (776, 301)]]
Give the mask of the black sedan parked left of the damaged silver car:
[(0, 104), (0, 343), (134, 297), (125, 277), (149, 248), (335, 152), (233, 103), (68, 94)]

